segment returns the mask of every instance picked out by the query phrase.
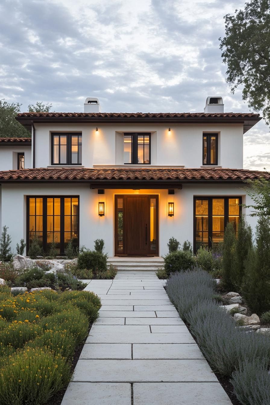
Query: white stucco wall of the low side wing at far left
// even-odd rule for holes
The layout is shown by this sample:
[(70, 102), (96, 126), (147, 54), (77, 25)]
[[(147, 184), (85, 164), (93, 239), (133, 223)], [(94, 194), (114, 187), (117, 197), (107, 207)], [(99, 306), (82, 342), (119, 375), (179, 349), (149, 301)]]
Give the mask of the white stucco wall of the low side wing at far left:
[(17, 170), (17, 153), (24, 152), (24, 167), (31, 167), (30, 145), (1, 145), (0, 144), (0, 171)]

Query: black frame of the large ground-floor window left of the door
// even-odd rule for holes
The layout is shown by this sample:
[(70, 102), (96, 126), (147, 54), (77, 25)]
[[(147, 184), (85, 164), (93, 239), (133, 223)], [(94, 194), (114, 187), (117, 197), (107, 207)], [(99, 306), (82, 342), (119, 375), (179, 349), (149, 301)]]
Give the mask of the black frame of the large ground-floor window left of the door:
[(60, 256), (65, 256), (64, 251), (64, 232), (65, 232), (65, 198), (78, 198), (78, 224), (77, 224), (77, 232), (78, 232), (78, 242), (77, 247), (80, 246), (80, 197), (78, 195), (32, 195), (26, 196), (26, 252), (28, 253), (30, 242), (29, 242), (29, 217), (30, 217), (30, 198), (42, 198), (43, 199), (43, 226), (42, 226), (42, 248), (44, 252), (47, 252), (47, 199), (48, 198), (60, 198)]

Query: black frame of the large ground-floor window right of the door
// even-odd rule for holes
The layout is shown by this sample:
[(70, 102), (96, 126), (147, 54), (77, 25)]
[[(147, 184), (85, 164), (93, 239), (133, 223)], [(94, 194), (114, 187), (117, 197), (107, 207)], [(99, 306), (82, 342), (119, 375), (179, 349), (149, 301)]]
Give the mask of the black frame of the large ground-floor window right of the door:
[(193, 253), (196, 254), (196, 200), (208, 200), (208, 249), (213, 239), (213, 199), (224, 200), (224, 230), (229, 222), (229, 200), (239, 199), (239, 219), (242, 217), (242, 196), (193, 196)]

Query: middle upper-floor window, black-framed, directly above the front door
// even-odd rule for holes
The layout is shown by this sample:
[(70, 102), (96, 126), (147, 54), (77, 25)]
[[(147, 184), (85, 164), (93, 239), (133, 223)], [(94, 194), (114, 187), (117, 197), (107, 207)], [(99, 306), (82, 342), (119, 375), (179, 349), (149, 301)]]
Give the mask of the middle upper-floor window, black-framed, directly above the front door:
[(151, 163), (151, 134), (124, 133), (124, 164)]

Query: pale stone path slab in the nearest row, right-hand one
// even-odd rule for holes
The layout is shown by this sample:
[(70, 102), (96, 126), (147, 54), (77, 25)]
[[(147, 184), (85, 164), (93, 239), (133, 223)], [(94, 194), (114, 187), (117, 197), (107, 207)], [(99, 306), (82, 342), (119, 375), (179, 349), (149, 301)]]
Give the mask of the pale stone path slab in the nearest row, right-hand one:
[(135, 383), (134, 405), (232, 405), (217, 382)]

